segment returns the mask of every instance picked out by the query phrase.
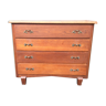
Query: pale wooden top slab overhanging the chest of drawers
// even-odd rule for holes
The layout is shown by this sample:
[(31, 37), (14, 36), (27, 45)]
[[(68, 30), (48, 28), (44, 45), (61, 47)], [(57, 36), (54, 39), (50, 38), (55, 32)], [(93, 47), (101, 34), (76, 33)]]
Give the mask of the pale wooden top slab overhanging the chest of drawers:
[(97, 19), (9, 19), (9, 23), (89, 23), (99, 25)]

